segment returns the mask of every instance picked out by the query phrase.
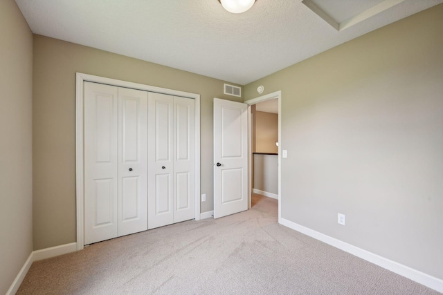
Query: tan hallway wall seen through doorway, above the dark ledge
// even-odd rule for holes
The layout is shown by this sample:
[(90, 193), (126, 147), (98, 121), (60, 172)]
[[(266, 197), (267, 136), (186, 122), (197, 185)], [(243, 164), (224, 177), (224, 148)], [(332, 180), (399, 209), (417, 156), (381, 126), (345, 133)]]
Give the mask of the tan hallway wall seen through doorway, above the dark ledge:
[(255, 152), (278, 153), (278, 115), (255, 111)]

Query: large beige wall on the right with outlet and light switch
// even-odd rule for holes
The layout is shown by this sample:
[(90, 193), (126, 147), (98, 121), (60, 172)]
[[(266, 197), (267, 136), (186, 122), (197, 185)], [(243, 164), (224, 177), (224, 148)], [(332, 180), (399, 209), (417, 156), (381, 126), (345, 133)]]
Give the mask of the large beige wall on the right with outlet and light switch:
[(282, 91), (282, 218), (443, 279), (443, 5), (248, 84), (245, 99), (259, 85)]

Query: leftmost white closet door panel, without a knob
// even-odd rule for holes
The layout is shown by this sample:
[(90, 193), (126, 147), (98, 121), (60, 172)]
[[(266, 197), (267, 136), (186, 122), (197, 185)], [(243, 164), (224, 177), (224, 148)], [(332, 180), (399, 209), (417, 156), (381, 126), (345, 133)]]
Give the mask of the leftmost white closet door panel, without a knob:
[(118, 88), (84, 83), (84, 243), (118, 235)]

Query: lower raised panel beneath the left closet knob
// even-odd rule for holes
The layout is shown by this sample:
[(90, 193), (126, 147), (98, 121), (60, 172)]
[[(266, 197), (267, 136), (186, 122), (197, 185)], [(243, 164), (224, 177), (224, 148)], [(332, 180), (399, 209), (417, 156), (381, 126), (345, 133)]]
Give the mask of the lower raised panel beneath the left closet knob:
[(140, 200), (138, 198), (138, 177), (126, 177), (122, 179), (122, 221), (139, 218), (138, 208)]

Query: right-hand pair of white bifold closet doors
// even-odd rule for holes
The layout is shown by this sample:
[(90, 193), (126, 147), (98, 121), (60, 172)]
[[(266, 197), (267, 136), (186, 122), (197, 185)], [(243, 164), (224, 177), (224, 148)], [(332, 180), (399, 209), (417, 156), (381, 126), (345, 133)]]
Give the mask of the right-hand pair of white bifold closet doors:
[(148, 94), (148, 228), (195, 218), (195, 99)]

